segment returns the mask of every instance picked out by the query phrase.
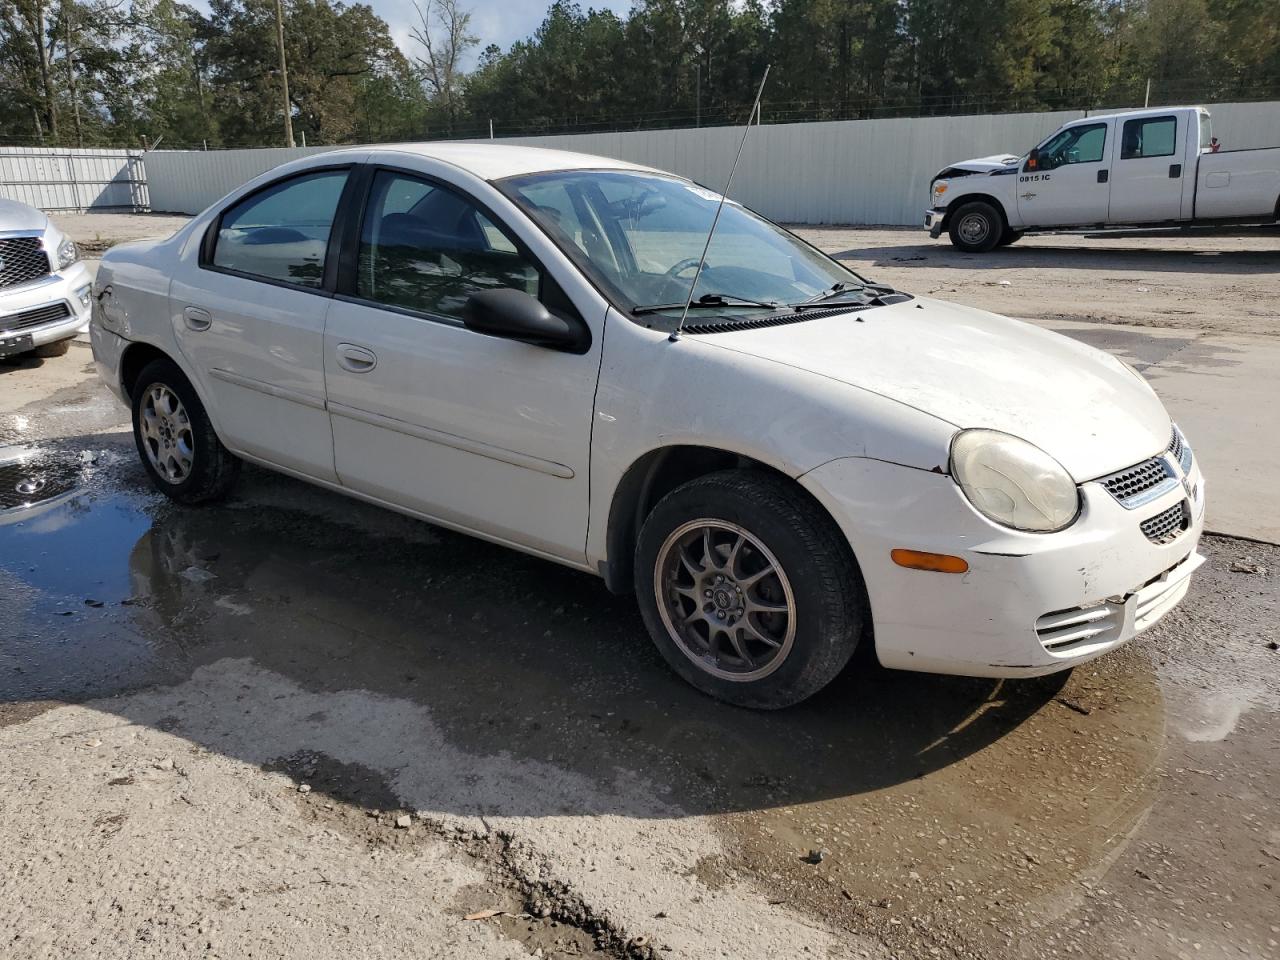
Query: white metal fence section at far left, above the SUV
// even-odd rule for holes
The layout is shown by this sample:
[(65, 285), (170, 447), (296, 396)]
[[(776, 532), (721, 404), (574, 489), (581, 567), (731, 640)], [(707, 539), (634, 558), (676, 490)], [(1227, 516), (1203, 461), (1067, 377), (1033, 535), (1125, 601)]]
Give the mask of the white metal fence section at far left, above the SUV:
[(137, 150), (0, 147), (0, 197), (76, 214), (151, 209)]

